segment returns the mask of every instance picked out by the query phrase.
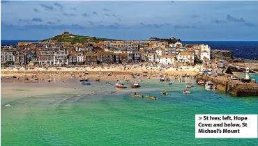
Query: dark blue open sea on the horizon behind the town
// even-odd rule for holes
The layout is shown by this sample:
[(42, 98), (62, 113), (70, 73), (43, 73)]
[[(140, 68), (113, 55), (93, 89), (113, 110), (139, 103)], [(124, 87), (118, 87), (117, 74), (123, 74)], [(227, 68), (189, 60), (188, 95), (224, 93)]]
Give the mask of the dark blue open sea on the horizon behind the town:
[[(38, 42), (38, 40), (1, 40), (1, 46), (18, 42)], [(258, 59), (258, 41), (183, 41), (185, 44), (208, 44), (211, 49), (232, 50), (235, 58)]]

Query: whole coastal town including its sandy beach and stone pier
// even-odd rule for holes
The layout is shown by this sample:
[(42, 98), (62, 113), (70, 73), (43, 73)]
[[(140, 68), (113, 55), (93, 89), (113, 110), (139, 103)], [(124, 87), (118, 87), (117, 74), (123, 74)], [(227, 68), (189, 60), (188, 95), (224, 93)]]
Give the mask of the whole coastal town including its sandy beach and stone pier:
[[(75, 35), (65, 31), (59, 36)], [(120, 78), (121, 81), (123, 78), (127, 82), (130, 74), (133, 78), (137, 76), (139, 81), (142, 81), (141, 76), (170, 81), (170, 76), (179, 82), (196, 79), (200, 86), (205, 84), (209, 89), (237, 96), (258, 95), (257, 83), (255, 79), (250, 79), (250, 73), (257, 71), (257, 63), (238, 63), (232, 51), (211, 49), (208, 44), (184, 44), (174, 37), (141, 41), (87, 40), (84, 43), (56, 42), (52, 39), (19, 42), (17, 46), (1, 47), (1, 66), (1, 74), (7, 79), (10, 73), (15, 76), (13, 78), (16, 78), (15, 74), (25, 73), (28, 81), (27, 72), (33, 73), (32, 77), (36, 81), (36, 74), (52, 72), (59, 75), (70, 73), (71, 76), (79, 77), (91, 72), (91, 75), (97, 77), (96, 81), (100, 81), (102, 72), (105, 72), (106, 79), (114, 74), (112, 78), (115, 80), (119, 81)], [(245, 72), (245, 77), (232, 72)], [(80, 81), (89, 81), (88, 76)], [(47, 81), (51, 81), (50, 76), (47, 76)], [(116, 88), (123, 86), (123, 83), (117, 83)], [(135, 86), (139, 87), (139, 84), (132, 84), (132, 87)], [(192, 87), (192, 84), (186, 86)], [(183, 92), (188, 94), (190, 91)]]

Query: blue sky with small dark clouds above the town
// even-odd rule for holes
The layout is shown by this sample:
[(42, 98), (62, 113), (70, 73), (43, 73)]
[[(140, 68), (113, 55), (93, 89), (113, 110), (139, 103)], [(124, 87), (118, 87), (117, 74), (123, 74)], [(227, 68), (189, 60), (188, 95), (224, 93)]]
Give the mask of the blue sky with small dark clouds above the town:
[(2, 40), (258, 40), (258, 1), (1, 1)]

